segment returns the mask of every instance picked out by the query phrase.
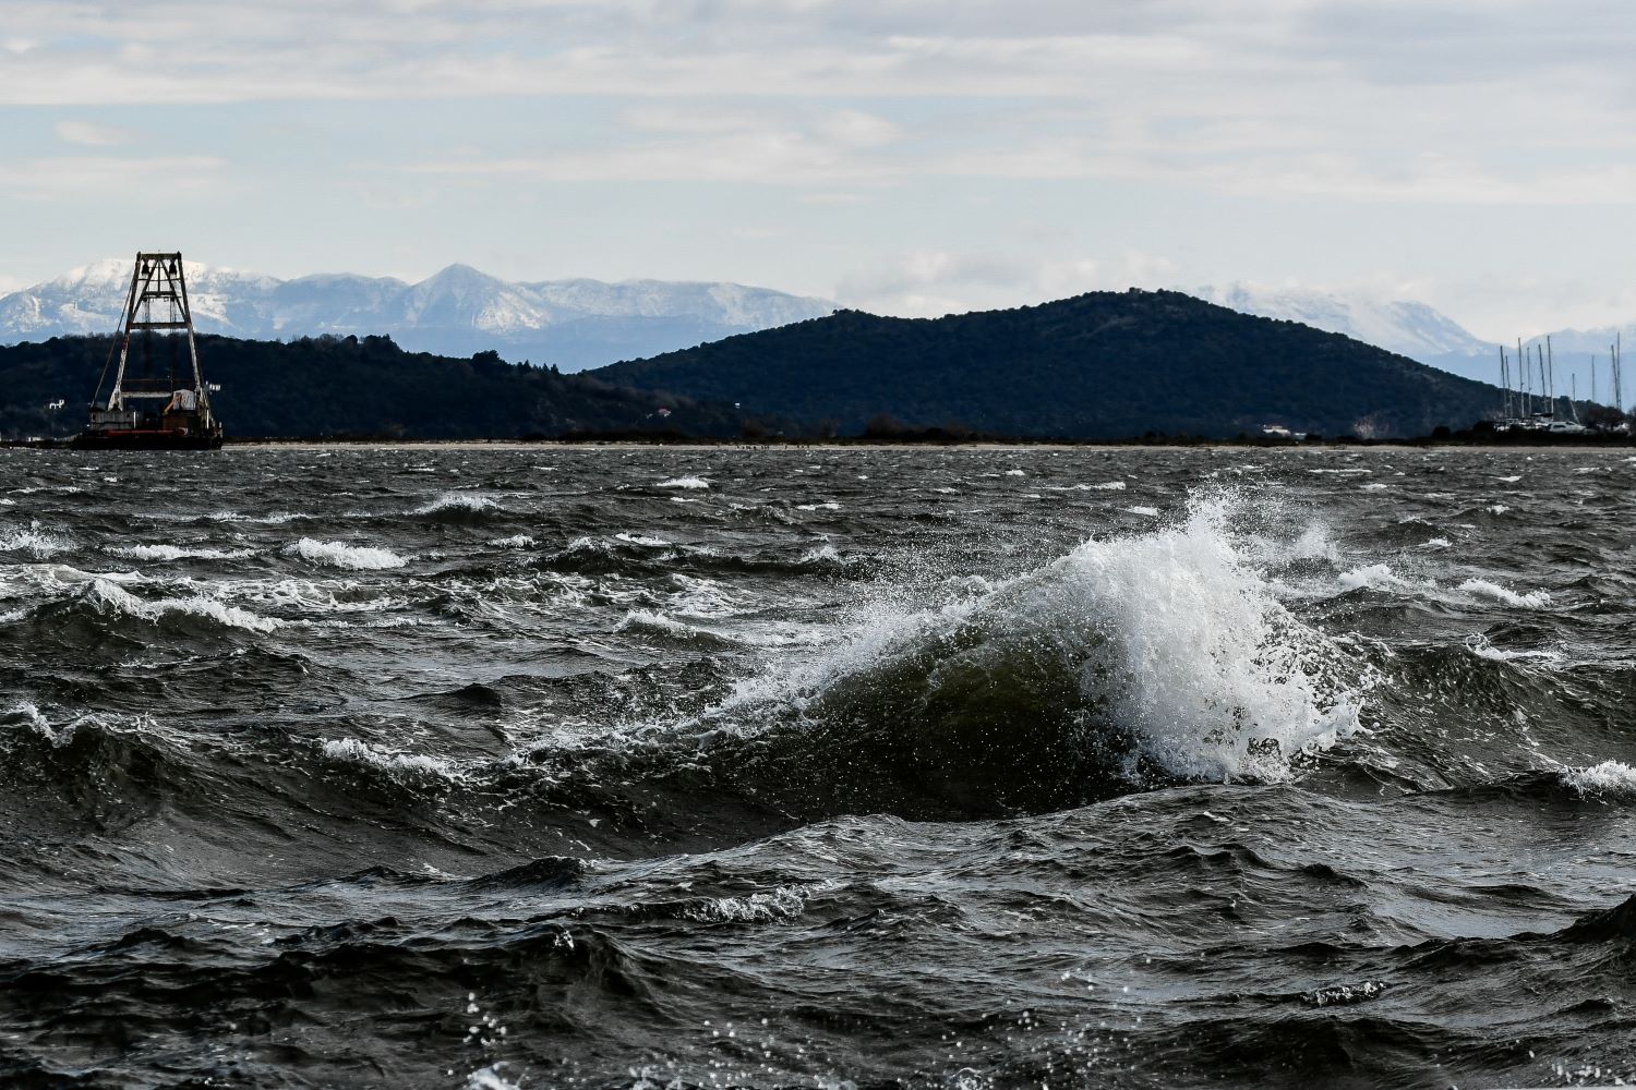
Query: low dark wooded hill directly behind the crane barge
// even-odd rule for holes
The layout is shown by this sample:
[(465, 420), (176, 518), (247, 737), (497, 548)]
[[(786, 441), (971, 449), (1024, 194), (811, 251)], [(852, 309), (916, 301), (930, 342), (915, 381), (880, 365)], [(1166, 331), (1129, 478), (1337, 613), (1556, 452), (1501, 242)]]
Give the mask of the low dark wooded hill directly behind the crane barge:
[[(85, 423), (108, 337), (57, 337), (0, 348), (0, 436), (69, 435)], [(578, 430), (676, 428), (733, 436), (731, 405), (661, 400), (582, 374), (409, 353), (388, 337), (317, 337), (291, 343), (200, 337), (200, 363), (221, 392), (213, 405), (229, 436), (391, 435), (515, 438)], [(172, 366), (169, 338), (133, 346), (133, 374)], [(175, 363), (185, 366), (185, 348)], [(61, 410), (46, 409), (54, 400)], [(669, 409), (667, 417), (656, 413)]]

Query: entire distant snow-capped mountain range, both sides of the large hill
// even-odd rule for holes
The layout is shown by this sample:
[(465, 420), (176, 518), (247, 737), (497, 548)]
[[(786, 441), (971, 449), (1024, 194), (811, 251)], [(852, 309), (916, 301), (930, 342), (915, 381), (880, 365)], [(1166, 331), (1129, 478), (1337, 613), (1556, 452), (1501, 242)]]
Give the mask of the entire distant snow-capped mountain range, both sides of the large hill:
[[(187, 263), (193, 320), (201, 332), (250, 338), (388, 333), (412, 351), (555, 363), (563, 371), (689, 348), (733, 333), (821, 317), (834, 304), (730, 283), (553, 279), (514, 283), (466, 265), (409, 284), (389, 276), (321, 273), (276, 279)], [(110, 333), (119, 322), (131, 261), (108, 258), (0, 296), (0, 343), (65, 333)], [(1484, 342), (1423, 302), (1368, 293), (1232, 283), (1181, 288), (1261, 317), (1345, 333), (1435, 368), (1499, 382), (1499, 345)], [(1551, 333), (1557, 394), (1611, 400), (1608, 345), (1615, 328)], [(1623, 328), (1636, 351), (1636, 324)], [(1525, 342), (1530, 348), (1544, 338)], [(1515, 346), (1508, 346), (1515, 353)], [(1636, 366), (1626, 369), (1626, 402)]]

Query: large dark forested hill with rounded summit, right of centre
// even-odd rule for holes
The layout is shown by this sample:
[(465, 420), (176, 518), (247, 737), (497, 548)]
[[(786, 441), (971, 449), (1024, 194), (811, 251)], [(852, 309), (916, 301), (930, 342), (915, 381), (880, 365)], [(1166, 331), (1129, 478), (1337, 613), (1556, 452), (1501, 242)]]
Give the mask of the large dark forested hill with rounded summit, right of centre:
[(998, 435), (1405, 436), (1500, 404), (1492, 386), (1338, 333), (1137, 289), (941, 319), (841, 310), (587, 374), (841, 433), (887, 413)]

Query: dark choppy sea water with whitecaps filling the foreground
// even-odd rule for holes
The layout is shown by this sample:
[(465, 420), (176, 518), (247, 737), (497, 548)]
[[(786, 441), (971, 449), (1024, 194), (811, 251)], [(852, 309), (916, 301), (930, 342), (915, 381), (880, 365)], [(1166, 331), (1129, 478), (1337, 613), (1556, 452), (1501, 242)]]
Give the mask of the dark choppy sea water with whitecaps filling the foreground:
[(0, 1082), (1636, 1079), (1636, 458), (0, 451)]

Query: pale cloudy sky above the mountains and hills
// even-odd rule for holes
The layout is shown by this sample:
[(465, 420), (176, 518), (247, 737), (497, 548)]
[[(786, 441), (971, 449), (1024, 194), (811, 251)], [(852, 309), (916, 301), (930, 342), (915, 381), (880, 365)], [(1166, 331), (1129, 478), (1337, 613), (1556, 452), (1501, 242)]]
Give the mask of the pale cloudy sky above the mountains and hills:
[(1629, 0), (0, 0), (0, 289), (1230, 281), (1636, 319)]

